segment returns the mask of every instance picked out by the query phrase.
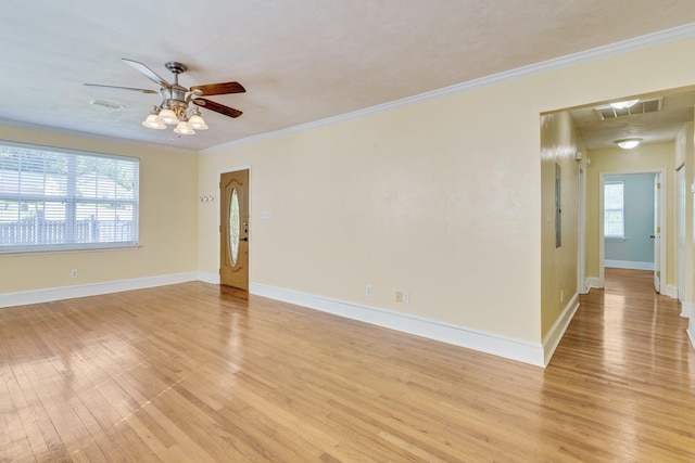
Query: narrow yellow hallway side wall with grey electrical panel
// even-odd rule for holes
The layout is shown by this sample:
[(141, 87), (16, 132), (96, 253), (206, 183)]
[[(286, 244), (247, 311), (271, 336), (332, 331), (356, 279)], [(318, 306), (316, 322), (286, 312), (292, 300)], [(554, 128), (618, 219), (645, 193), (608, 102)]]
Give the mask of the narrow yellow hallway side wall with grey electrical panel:
[[(579, 173), (577, 152), (585, 153), (569, 113), (541, 117), (541, 326), (551, 331), (563, 310), (578, 294)], [(582, 160), (581, 163), (585, 163)], [(555, 239), (555, 166), (560, 167), (561, 245)]]

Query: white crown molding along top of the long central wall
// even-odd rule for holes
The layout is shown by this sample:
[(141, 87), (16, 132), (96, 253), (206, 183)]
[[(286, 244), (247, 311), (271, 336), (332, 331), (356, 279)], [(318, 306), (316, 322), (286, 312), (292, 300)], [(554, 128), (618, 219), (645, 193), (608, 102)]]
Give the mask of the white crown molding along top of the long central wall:
[(429, 100), (434, 100), (438, 98), (447, 97), (447, 95), (452, 95), (452, 94), (456, 94), (465, 91), (470, 91), (473, 89), (488, 87), (495, 83), (505, 82), (508, 80), (522, 79), (526, 77), (535, 76), (539, 74), (561, 69), (565, 67), (576, 66), (583, 63), (590, 63), (592, 61), (602, 60), (608, 56), (615, 56), (617, 54), (629, 53), (632, 51), (642, 50), (645, 48), (655, 47), (662, 43), (684, 40), (692, 37), (695, 37), (695, 23), (690, 23), (683, 26), (673, 27), (671, 29), (647, 34), (645, 36), (622, 40), (616, 43), (607, 44), (604, 47), (597, 47), (591, 50), (584, 50), (579, 53), (568, 54), (566, 56), (560, 56), (554, 60), (547, 60), (541, 63), (534, 63), (527, 66), (517, 67), (515, 69), (492, 74), (490, 76), (484, 76), (477, 79), (468, 80), (466, 82), (456, 83), (450, 87), (444, 87), (439, 90), (433, 90), (430, 92), (407, 97), (407, 98), (392, 101), (389, 103), (378, 104), (376, 106), (367, 107), (364, 110), (354, 111), (352, 113), (328, 117), (328, 118), (316, 120), (313, 123), (289, 127), (287, 129), (258, 133), (255, 136), (240, 139), (240, 140), (235, 140), (229, 143), (223, 143), (217, 146), (211, 146), (204, 150), (200, 150), (198, 153), (199, 154), (215, 153), (220, 150), (226, 150), (228, 147), (252, 143), (258, 140), (271, 139), (271, 138), (281, 137), (288, 133), (309, 130), (316, 127), (356, 119), (374, 113), (381, 113), (381, 112), (390, 111), (396, 107), (420, 103)]

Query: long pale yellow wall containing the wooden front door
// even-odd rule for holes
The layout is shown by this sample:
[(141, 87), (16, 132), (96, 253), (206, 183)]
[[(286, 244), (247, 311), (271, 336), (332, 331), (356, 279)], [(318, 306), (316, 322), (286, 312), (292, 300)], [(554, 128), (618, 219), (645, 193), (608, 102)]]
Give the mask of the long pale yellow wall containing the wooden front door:
[[(201, 191), (252, 166), (252, 282), (538, 343), (556, 313), (542, 318), (541, 293), (557, 292), (542, 290), (540, 114), (692, 85), (694, 44), (225, 147), (201, 157)], [(217, 227), (201, 206), (204, 272), (217, 272)]]

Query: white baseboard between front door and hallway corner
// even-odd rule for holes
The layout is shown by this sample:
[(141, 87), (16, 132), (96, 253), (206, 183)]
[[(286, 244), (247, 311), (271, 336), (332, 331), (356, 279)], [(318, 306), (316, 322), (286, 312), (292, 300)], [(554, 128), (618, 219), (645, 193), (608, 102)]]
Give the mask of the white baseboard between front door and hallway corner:
[(535, 344), (438, 320), (330, 299), (262, 283), (252, 283), (250, 292), (258, 296), (295, 304), (351, 320), (492, 353), (536, 366), (545, 366), (543, 346), (540, 343)]

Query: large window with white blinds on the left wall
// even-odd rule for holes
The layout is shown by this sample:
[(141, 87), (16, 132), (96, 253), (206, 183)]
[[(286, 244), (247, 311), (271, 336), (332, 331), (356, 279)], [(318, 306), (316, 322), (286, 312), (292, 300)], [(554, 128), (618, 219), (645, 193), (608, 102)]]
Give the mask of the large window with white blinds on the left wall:
[(139, 159), (0, 142), (0, 253), (138, 244)]

